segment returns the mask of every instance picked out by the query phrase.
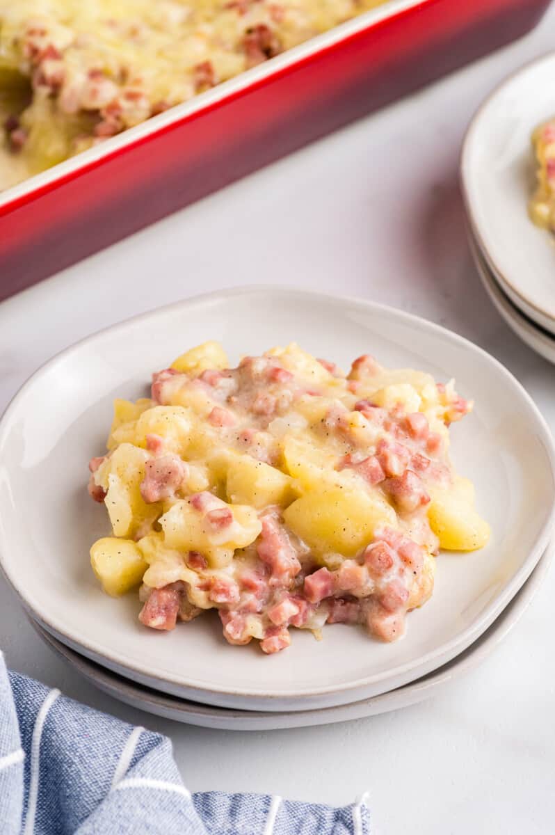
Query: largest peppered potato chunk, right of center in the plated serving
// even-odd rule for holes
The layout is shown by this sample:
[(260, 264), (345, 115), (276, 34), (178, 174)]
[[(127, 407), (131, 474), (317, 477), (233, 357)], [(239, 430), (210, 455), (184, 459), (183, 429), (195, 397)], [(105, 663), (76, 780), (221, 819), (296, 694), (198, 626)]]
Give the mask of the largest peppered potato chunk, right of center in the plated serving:
[(379, 493), (341, 487), (315, 489), (297, 498), (284, 512), (285, 523), (322, 555), (356, 554), (374, 536), (379, 524), (396, 524), (396, 514)]

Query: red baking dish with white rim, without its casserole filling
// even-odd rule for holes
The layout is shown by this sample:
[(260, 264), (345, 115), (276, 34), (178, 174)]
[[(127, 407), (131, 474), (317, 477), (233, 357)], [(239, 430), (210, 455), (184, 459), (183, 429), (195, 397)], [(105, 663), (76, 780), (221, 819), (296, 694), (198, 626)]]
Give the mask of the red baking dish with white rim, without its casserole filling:
[(532, 28), (549, 0), (390, 0), (0, 194), (0, 298)]

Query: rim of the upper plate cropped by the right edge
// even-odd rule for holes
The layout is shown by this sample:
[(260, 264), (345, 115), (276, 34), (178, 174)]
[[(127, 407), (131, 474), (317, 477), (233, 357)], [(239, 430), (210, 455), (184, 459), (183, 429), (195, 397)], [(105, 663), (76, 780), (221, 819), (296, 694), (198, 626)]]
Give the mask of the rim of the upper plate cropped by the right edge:
[[(536, 58), (532, 58), (532, 60), (523, 63), (522, 66), (513, 70), (512, 73), (509, 73), (505, 76), (505, 78), (502, 78), (492, 91), (487, 94), (486, 98), (482, 99), (482, 103), (473, 114), (462, 139), (459, 181), (461, 184), (462, 199), (465, 205), (465, 210), (467, 211), (467, 216), (472, 223), (472, 229), (477, 238), (480, 249), (487, 258), (487, 261), (491, 264), (492, 270), (496, 273), (498, 280), (507, 287), (507, 293), (514, 296), (514, 298), (512, 298), (513, 304), (515, 306), (520, 306), (521, 304), (522, 306), (527, 306), (527, 315), (534, 320), (536, 320), (536, 317), (538, 316), (539, 319), (536, 320), (538, 321), (538, 324), (541, 324), (545, 329), (553, 328), (553, 333), (555, 334), (555, 311), (553, 311), (553, 314), (550, 314), (542, 307), (538, 306), (537, 302), (535, 302), (531, 297), (526, 296), (520, 287), (514, 285), (514, 282), (510, 280), (510, 277), (507, 276), (506, 272), (502, 271), (496, 259), (492, 256), (492, 252), (487, 246), (482, 230), (480, 229), (480, 225), (477, 223), (476, 216), (474, 215), (472, 187), (470, 185), (470, 179), (472, 176), (470, 173), (472, 172), (472, 164), (470, 163), (471, 146), (475, 141), (475, 134), (477, 134), (485, 111), (488, 109), (490, 104), (492, 104), (492, 101), (497, 98), (497, 95), (509, 88), (516, 78), (537, 67), (540, 67), (543, 63), (548, 63), (550, 61), (555, 63), (555, 49), (550, 49), (547, 52), (538, 55)], [(555, 108), (553, 112), (555, 112)], [(532, 223), (532, 220), (529, 222)], [(542, 231), (545, 235), (549, 234), (547, 230)]]

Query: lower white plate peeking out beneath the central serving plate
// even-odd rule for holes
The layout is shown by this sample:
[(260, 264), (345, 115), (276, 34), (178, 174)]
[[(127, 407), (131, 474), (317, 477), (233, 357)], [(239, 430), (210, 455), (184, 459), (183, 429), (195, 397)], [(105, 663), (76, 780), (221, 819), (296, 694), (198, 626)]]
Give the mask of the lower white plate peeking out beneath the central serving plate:
[(478, 638), (461, 655), (457, 655), (457, 658), (449, 664), (442, 666), (441, 669), (421, 678), (419, 681), (413, 681), (412, 684), (406, 684), (389, 693), (382, 693), (381, 696), (356, 701), (351, 705), (321, 707), (314, 711), (290, 711), (289, 713), (233, 711), (225, 707), (199, 705), (194, 701), (177, 699), (175, 696), (168, 696), (134, 684), (129, 679), (94, 664), (93, 661), (89, 661), (83, 655), (70, 650), (53, 638), (33, 619), (31, 619), (31, 622), (47, 644), (59, 655), (62, 655), (94, 686), (108, 693), (109, 696), (114, 696), (114, 699), (124, 701), (125, 704), (137, 707), (139, 710), (154, 713), (156, 716), (164, 716), (165, 719), (174, 719), (174, 721), (186, 722), (189, 725), (218, 728), (226, 731), (275, 731), (282, 728), (330, 725), (331, 722), (362, 719), (364, 716), (377, 716), (379, 713), (387, 713), (387, 711), (399, 710), (401, 707), (416, 705), (419, 701), (437, 696), (438, 691), (452, 684), (463, 673), (481, 664), (487, 658), (487, 655), (490, 655), (496, 649), (497, 645), (501, 643), (531, 604), (547, 575), (552, 556), (553, 544), (550, 543), (522, 589), (507, 605), (507, 608), (502, 611), (497, 620), (493, 621), (482, 637)]

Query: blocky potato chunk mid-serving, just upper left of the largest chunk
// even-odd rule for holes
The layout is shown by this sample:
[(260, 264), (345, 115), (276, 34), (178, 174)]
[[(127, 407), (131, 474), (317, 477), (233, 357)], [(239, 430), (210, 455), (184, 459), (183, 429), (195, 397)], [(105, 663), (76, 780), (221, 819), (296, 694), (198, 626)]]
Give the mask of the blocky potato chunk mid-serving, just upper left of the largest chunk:
[(241, 455), (230, 464), (226, 492), (234, 504), (265, 508), (268, 504), (286, 507), (295, 498), (293, 479), (250, 455)]

